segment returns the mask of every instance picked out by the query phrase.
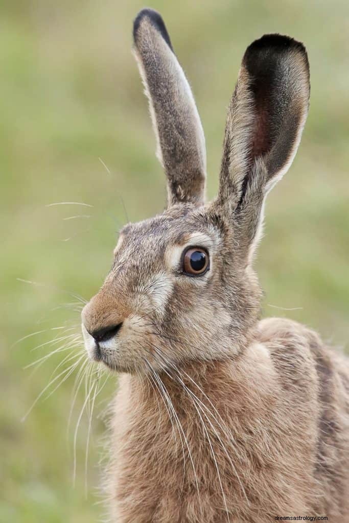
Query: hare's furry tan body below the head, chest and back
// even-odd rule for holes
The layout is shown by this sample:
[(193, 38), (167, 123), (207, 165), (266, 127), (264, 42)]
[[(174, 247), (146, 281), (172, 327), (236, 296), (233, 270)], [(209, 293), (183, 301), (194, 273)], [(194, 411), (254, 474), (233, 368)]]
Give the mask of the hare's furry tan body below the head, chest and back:
[(263, 320), (238, 357), (188, 366), (182, 377), (188, 390), (159, 376), (178, 416), (174, 429), (159, 390), (120, 379), (112, 521), (227, 523), (222, 488), (234, 523), (349, 521), (349, 366), (316, 333)]

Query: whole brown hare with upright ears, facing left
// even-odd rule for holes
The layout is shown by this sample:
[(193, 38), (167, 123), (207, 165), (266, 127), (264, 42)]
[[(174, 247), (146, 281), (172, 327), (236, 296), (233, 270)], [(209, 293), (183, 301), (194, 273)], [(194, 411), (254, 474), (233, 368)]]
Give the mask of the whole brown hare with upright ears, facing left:
[(247, 48), (205, 203), (204, 132), (161, 16), (143, 9), (133, 37), (168, 201), (121, 230), (82, 313), (89, 357), (121, 374), (111, 521), (349, 521), (348, 362), (305, 326), (260, 321), (252, 268), (307, 118), (306, 50), (280, 35)]

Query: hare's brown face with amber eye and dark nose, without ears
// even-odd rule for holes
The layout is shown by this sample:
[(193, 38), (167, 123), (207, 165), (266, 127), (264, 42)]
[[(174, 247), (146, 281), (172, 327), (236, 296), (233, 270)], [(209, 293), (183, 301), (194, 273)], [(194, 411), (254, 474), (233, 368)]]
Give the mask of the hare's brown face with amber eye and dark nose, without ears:
[(236, 354), (258, 291), (247, 292), (252, 280), (234, 262), (232, 240), (204, 206), (174, 206), (123, 228), (111, 271), (83, 311), (89, 356), (147, 372)]

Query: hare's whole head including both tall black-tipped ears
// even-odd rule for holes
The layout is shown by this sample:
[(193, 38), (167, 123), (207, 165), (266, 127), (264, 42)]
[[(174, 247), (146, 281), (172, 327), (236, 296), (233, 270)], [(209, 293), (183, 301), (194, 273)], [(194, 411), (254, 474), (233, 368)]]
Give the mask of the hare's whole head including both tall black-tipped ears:
[(219, 193), (205, 203), (204, 132), (160, 15), (142, 10), (133, 37), (167, 209), (121, 230), (111, 271), (83, 311), (86, 349), (126, 372), (232, 358), (259, 313), (251, 264), (264, 200), (290, 166), (307, 117), (306, 50), (280, 35), (247, 48), (228, 110)]

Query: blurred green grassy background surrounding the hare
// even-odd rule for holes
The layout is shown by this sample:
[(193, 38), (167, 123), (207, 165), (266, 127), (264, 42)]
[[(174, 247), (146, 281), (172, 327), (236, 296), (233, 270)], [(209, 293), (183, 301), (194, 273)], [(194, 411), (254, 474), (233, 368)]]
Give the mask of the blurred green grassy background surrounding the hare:
[[(103, 518), (96, 489), (104, 423), (97, 416), (115, 378), (96, 401), (86, 497), (86, 416), (77, 436), (73, 486), (73, 433), (84, 386), (66, 436), (73, 375), (46, 401), (44, 394), (21, 422), (63, 356), (53, 355), (33, 376), (23, 368), (49, 353), (49, 345), (32, 349), (61, 332), (52, 328), (78, 326), (78, 300), (63, 290), (86, 299), (95, 293), (126, 215), (141, 220), (164, 206), (165, 178), (131, 54), (132, 19), (143, 6), (133, 0), (3, 0), (0, 6), (0, 521)], [(345, 347), (347, 1), (154, 0), (151, 6), (161, 11), (196, 95), (206, 131), (210, 198), (217, 190), (224, 120), (244, 49), (265, 32), (305, 42), (311, 108), (294, 165), (268, 198), (257, 263), (263, 315), (290, 316)], [(46, 207), (64, 201), (93, 207)], [(37, 331), (45, 332), (15, 344)]]

